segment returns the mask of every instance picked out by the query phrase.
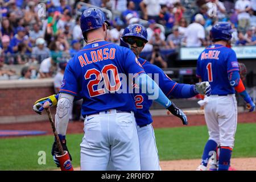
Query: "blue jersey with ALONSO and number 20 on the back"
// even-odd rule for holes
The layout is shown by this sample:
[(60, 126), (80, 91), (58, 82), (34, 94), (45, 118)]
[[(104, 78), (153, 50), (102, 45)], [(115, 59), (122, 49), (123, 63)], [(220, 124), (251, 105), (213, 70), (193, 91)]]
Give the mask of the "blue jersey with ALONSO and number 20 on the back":
[(136, 111), (127, 80), (129, 74), (133, 78), (141, 73), (144, 70), (130, 49), (96, 42), (68, 62), (60, 92), (83, 98), (83, 117), (108, 109)]

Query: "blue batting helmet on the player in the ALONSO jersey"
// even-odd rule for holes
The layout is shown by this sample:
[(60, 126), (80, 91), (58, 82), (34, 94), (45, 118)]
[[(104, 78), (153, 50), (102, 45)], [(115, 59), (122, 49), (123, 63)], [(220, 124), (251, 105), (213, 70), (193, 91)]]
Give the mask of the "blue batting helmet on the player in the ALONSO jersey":
[(102, 27), (104, 23), (110, 26), (108, 20), (106, 20), (105, 14), (97, 8), (90, 8), (85, 10), (80, 18), (80, 27), (82, 33)]

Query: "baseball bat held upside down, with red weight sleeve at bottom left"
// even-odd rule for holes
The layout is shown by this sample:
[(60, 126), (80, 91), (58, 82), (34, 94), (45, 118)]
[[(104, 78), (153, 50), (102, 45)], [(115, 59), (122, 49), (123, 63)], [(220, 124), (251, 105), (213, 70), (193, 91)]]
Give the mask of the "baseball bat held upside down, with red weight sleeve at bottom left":
[(45, 102), (43, 107), (44, 107), (44, 109), (46, 109), (46, 113), (48, 115), (49, 122), (51, 123), (52, 131), (53, 131), (54, 137), (56, 139), (57, 148), (60, 151), (60, 155), (56, 155), (56, 158), (60, 162), (60, 169), (61, 169), (61, 171), (73, 171), (74, 169), (72, 167), (71, 160), (69, 158), (69, 154), (67, 151), (63, 150), (59, 135), (57, 134), (55, 123), (53, 122), (53, 119), (52, 119), (51, 110), (49, 109), (49, 102), (48, 101)]

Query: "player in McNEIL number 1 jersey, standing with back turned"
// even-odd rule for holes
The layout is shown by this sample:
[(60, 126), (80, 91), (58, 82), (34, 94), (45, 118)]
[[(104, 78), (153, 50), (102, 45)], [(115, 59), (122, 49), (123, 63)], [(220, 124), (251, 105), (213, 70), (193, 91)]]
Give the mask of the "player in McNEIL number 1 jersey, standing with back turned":
[(254, 111), (255, 105), (247, 94), (239, 74), (236, 53), (226, 47), (232, 38), (232, 28), (228, 22), (218, 22), (210, 30), (213, 44), (201, 52), (197, 60), (197, 77), (200, 81), (209, 81), (212, 94), (205, 97), (205, 121), (209, 130), (209, 140), (205, 144), (202, 161), (197, 168), (205, 171), (209, 158), (217, 151), (218, 170), (228, 170), (234, 135), (237, 128), (237, 101), (235, 90), (247, 103), (249, 111)]

